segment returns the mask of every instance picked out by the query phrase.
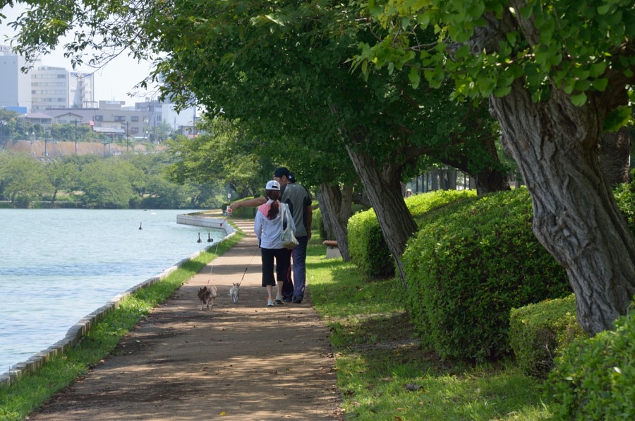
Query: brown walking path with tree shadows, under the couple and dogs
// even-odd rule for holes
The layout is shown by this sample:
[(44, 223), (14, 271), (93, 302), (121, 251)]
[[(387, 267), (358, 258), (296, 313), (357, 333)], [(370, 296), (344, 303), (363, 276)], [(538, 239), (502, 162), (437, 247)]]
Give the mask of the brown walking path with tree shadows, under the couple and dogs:
[[(234, 222), (245, 239), (29, 419), (340, 419), (329, 331), (310, 291), (302, 304), (265, 307), (253, 221)], [(240, 300), (232, 304), (229, 288), (243, 275)], [(210, 279), (218, 296), (206, 312), (197, 292)]]

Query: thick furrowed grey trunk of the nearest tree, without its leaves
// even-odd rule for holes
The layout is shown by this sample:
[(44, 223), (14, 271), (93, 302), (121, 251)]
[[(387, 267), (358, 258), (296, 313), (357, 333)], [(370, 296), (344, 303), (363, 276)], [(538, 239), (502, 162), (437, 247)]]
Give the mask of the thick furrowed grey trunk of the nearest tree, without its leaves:
[(611, 328), (635, 295), (635, 240), (600, 169), (603, 104), (575, 107), (556, 89), (534, 103), (521, 81), (490, 104), (531, 194), (533, 232), (567, 270), (579, 323), (591, 334)]

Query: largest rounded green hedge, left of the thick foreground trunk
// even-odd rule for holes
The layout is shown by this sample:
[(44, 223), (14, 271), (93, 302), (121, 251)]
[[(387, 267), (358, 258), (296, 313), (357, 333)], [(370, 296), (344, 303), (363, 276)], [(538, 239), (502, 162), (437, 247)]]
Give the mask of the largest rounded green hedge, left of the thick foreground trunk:
[(571, 294), (567, 274), (534, 237), (526, 189), (424, 216), (404, 253), (406, 302), (422, 343), (444, 358), (511, 352), (509, 311)]

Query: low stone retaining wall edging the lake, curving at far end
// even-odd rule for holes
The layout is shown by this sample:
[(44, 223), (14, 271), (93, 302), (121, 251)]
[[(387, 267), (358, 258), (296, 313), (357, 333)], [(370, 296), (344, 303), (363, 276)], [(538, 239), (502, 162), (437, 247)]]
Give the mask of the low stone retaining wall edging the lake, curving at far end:
[[(220, 218), (210, 218), (204, 215), (177, 215), (176, 222), (179, 224), (196, 225), (200, 227), (221, 228), (225, 231), (226, 234), (221, 242), (225, 241), (236, 233), (236, 229), (229, 225), (229, 223), (226, 223), (226, 220)], [(179, 263), (176, 263), (176, 265), (167, 268), (160, 275), (145, 280), (144, 282), (131, 287), (125, 292), (122, 292), (121, 294), (114, 297), (104, 306), (99, 307), (99, 309), (95, 310), (95, 312), (87, 314), (87, 316), (78, 321), (75, 326), (68, 329), (68, 332), (66, 332), (66, 336), (64, 336), (62, 340), (59, 340), (57, 343), (49, 346), (49, 348), (38, 352), (25, 362), (18, 362), (18, 364), (15, 364), (13, 367), (11, 367), (8, 372), (2, 374), (0, 376), (0, 386), (10, 386), (13, 381), (16, 381), (24, 374), (36, 372), (37, 369), (40, 369), (40, 367), (42, 367), (44, 363), (51, 360), (52, 357), (61, 355), (64, 351), (73, 348), (73, 346), (75, 346), (79, 342), (79, 340), (83, 338), (87, 331), (90, 331), (93, 326), (104, 319), (104, 316), (106, 316), (106, 314), (119, 307), (121, 300), (123, 300), (125, 297), (128, 297), (128, 295), (133, 294), (133, 292), (140, 290), (141, 288), (148, 287), (159, 282), (160, 280), (163, 280), (167, 275), (180, 268), (183, 263), (196, 259), (200, 253), (201, 251), (197, 251), (194, 254), (191, 254), (190, 256), (188, 256), (188, 258), (183, 259), (179, 261)]]

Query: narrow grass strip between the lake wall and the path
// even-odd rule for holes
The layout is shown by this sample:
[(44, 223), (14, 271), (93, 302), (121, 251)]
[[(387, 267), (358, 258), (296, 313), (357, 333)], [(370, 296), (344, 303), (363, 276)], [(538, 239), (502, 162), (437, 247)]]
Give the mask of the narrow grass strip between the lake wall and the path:
[(25, 419), (54, 393), (103, 362), (119, 340), (150, 310), (168, 300), (177, 288), (205, 268), (207, 263), (234, 247), (243, 237), (245, 234), (238, 230), (218, 247), (208, 247), (158, 283), (140, 288), (123, 298), (119, 307), (104, 316), (71, 350), (53, 357), (37, 372), (20, 377), (11, 386), (0, 387), (0, 420)]

